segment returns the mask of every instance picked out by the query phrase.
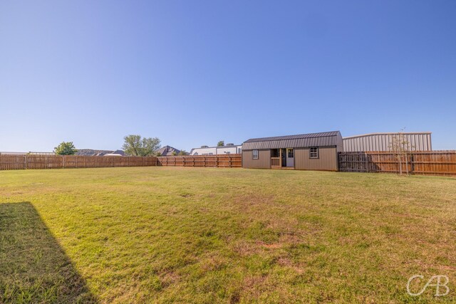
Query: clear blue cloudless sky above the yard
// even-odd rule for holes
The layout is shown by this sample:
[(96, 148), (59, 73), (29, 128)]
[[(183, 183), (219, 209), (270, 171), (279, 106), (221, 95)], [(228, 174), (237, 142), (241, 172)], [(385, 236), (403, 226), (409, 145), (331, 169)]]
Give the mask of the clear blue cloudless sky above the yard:
[(456, 149), (456, 1), (0, 1), (0, 151), (431, 131)]

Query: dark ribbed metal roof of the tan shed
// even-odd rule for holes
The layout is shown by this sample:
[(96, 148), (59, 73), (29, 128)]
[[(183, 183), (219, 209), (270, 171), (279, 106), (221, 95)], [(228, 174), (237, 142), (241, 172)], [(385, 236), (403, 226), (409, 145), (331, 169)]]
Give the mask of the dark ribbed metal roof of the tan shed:
[(338, 137), (341, 137), (341, 132), (339, 131), (252, 138), (242, 144), (242, 149), (260, 150), (297, 147), (328, 147), (338, 145)]

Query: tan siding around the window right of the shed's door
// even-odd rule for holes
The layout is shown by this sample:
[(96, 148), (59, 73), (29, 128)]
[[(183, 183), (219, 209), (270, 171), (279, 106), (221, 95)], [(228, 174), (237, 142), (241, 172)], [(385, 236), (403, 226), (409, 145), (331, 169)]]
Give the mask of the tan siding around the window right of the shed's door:
[(309, 148), (294, 150), (294, 166), (300, 170), (337, 171), (337, 148), (319, 147), (319, 158), (309, 158)]

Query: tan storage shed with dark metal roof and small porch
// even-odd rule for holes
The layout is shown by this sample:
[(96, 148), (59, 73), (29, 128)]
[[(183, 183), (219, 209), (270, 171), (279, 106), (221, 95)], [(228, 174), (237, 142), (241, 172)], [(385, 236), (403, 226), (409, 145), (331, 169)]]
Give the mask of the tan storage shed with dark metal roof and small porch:
[(339, 131), (252, 138), (242, 144), (242, 167), (337, 171), (342, 151)]

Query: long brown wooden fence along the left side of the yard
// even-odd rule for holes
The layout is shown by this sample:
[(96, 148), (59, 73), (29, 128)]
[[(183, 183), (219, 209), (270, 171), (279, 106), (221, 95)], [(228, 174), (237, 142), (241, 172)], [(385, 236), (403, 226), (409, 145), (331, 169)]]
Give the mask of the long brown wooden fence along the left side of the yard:
[(157, 157), (0, 154), (0, 170), (156, 166)]

